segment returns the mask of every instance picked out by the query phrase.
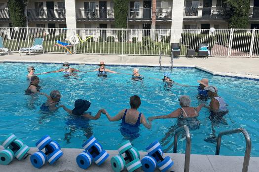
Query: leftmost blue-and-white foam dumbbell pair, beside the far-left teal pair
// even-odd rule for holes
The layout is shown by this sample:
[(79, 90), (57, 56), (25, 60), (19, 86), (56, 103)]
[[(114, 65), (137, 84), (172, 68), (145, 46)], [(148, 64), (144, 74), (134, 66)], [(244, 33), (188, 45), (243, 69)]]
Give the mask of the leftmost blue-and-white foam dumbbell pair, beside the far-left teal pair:
[[(46, 161), (52, 165), (63, 155), (59, 143), (52, 141), (47, 135), (38, 140), (36, 146), (39, 151), (32, 154), (31, 163), (38, 169), (41, 168)], [(44, 149), (45, 151), (43, 151)]]

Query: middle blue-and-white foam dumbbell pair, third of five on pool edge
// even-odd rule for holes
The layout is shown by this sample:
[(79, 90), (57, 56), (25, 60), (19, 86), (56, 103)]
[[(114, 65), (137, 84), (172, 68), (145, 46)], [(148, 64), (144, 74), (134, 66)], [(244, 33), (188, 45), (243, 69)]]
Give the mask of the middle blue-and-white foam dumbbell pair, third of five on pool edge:
[(76, 157), (76, 163), (84, 170), (88, 169), (93, 161), (100, 166), (109, 157), (107, 151), (103, 150), (102, 145), (93, 136), (83, 143), (82, 147), (84, 151)]

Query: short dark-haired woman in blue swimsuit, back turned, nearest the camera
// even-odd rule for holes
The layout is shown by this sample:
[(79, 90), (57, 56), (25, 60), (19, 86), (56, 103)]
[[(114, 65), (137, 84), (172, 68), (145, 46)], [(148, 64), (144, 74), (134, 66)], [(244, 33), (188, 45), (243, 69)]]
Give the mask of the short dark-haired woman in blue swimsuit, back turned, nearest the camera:
[(113, 117), (111, 117), (110, 114), (105, 111), (105, 115), (107, 116), (109, 121), (121, 120), (120, 132), (125, 139), (128, 139), (130, 141), (140, 136), (140, 124), (143, 124), (148, 129), (151, 128), (151, 125), (148, 124), (145, 115), (138, 111), (140, 105), (140, 97), (134, 95), (130, 97), (130, 109), (123, 109)]

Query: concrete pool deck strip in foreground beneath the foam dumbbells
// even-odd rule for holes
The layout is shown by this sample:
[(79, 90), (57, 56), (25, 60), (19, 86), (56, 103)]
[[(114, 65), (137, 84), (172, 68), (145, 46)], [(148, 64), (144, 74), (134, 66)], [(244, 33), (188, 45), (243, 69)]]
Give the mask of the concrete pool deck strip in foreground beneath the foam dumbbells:
[[(41, 169), (32, 166), (30, 156), (25, 160), (13, 160), (9, 165), (0, 165), (0, 172), (113, 172), (111, 170), (110, 160), (112, 156), (118, 154), (117, 151), (108, 150), (109, 158), (98, 167), (95, 164), (87, 169), (80, 169), (76, 164), (76, 156), (83, 151), (83, 149), (62, 149), (64, 155), (53, 165), (46, 163)], [(37, 148), (31, 148), (29, 153), (34, 153)], [(141, 159), (147, 152), (140, 152)], [(165, 153), (165, 156), (170, 156), (174, 161), (173, 167), (168, 170), (174, 172), (184, 172), (185, 154)], [(215, 156), (215, 155), (191, 155), (190, 156), (190, 172), (241, 172), (243, 166), (243, 157), (238, 156)], [(259, 157), (251, 157), (248, 172), (258, 172)], [(137, 170), (141, 172), (141, 170)], [(124, 172), (126, 172), (124, 170)], [(156, 170), (156, 172), (159, 172)]]

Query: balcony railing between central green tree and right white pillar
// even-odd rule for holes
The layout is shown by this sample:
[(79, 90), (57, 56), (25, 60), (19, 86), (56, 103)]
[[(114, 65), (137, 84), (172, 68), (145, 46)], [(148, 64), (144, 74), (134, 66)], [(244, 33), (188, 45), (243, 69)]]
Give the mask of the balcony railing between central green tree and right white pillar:
[[(171, 8), (156, 8), (157, 21), (171, 21)], [(150, 21), (152, 19), (151, 8), (131, 8), (128, 19), (130, 21)]]

